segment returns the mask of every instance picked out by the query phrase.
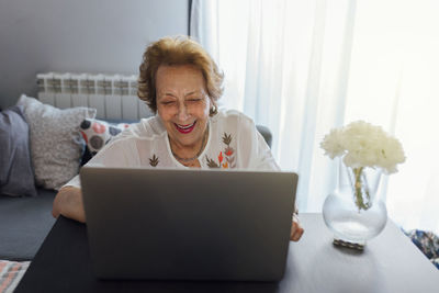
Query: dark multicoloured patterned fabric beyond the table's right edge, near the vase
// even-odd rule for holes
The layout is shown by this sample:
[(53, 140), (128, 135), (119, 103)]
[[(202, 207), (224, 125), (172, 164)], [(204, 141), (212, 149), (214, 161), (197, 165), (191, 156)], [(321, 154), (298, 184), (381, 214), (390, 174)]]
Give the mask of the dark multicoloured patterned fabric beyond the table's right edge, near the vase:
[(423, 253), (439, 269), (439, 237), (431, 232), (404, 232)]

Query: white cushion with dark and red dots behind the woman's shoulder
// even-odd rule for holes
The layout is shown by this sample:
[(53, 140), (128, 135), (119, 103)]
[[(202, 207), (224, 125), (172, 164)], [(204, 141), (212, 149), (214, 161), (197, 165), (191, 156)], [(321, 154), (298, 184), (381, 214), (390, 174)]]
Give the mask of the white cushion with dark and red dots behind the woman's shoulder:
[(110, 124), (105, 121), (86, 119), (81, 123), (80, 132), (91, 156), (94, 156), (114, 136), (128, 126), (130, 124), (126, 123)]

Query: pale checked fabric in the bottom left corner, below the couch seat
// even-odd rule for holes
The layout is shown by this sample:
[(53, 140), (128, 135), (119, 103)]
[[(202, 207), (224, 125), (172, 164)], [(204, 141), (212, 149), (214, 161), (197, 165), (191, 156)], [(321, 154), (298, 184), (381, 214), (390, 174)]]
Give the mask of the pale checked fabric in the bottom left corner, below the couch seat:
[(0, 260), (0, 293), (11, 293), (26, 272), (31, 261)]

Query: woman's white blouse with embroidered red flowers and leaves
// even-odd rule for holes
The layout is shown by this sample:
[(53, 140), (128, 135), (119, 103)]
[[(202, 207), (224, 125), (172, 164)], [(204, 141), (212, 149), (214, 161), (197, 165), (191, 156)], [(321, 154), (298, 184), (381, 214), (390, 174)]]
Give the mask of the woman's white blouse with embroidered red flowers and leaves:
[[(235, 110), (219, 111), (209, 119), (209, 139), (199, 161), (202, 169), (280, 170), (254, 121)], [(173, 157), (168, 134), (158, 115), (131, 125), (87, 165), (189, 168)], [(67, 185), (80, 188), (79, 176)]]

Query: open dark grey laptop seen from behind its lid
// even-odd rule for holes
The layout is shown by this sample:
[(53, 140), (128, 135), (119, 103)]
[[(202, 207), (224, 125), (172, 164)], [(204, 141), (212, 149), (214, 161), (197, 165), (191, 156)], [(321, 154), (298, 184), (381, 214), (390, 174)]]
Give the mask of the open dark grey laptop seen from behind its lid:
[(279, 281), (297, 174), (83, 167), (99, 279)]

